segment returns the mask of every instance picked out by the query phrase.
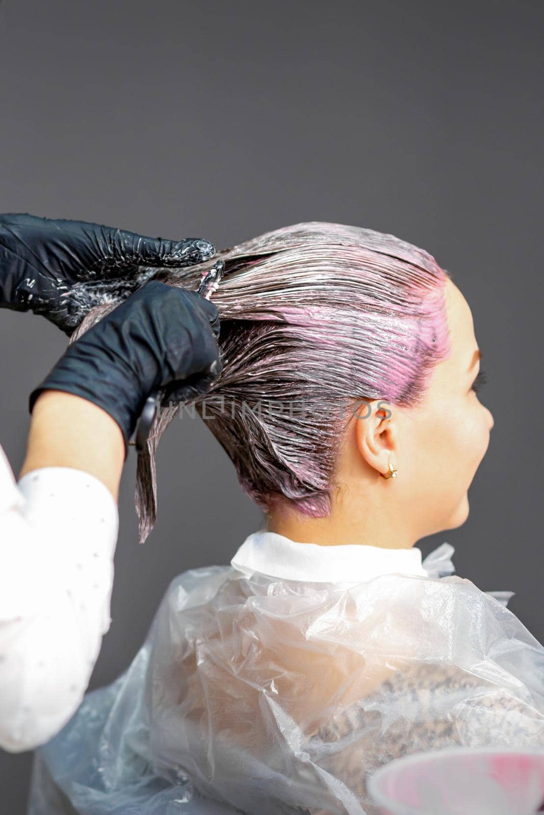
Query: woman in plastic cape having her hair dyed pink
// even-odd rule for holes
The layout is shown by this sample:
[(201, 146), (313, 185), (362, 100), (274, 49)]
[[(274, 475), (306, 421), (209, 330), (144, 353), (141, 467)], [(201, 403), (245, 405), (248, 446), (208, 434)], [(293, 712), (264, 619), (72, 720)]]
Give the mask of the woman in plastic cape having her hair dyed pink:
[[(170, 584), (148, 638), (37, 754), (30, 813), (375, 813), (382, 764), (544, 745), (544, 649), (453, 575), (493, 416), (451, 275), (391, 235), (308, 222), (219, 252), (223, 368), (193, 400), (266, 513)], [(210, 262), (164, 271), (196, 289)], [(91, 311), (77, 336), (110, 306)], [(139, 466), (142, 539), (153, 453)]]

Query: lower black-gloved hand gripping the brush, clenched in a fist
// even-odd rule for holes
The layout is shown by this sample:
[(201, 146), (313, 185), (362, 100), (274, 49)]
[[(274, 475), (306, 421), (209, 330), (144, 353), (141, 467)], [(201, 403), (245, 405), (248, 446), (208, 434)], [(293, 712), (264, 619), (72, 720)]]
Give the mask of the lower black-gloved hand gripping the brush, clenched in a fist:
[(42, 390), (64, 390), (102, 407), (127, 444), (154, 390), (170, 402), (210, 390), (222, 368), (217, 337), (213, 303), (152, 280), (67, 348), (30, 394), (30, 411)]

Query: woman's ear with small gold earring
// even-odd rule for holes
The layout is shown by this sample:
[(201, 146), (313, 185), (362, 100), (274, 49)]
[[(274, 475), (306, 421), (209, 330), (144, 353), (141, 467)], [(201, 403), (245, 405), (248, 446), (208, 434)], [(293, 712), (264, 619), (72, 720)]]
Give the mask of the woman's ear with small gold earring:
[(356, 447), (360, 456), (377, 474), (386, 475), (389, 462), (396, 466), (396, 417), (383, 399), (361, 401), (353, 408)]

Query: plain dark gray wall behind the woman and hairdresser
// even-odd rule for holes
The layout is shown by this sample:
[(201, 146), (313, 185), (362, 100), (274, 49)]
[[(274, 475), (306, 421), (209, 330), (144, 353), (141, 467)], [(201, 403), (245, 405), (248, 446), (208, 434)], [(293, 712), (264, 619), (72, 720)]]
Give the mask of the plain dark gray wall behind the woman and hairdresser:
[[(542, 641), (541, 37), (541, 2), (519, 0), (0, 6), (0, 211), (218, 249), (294, 222), (345, 222), (452, 271), (495, 427), (470, 518), (421, 548), (448, 540), (459, 575), (515, 591), (511, 610)], [(0, 337), (0, 441), (17, 469), (29, 391), (65, 339), (6, 311)], [(157, 466), (144, 546), (133, 455), (126, 466), (93, 688), (130, 662), (174, 575), (227, 563), (260, 526), (200, 420), (170, 426)], [(2, 813), (24, 813), (30, 759), (0, 755)]]

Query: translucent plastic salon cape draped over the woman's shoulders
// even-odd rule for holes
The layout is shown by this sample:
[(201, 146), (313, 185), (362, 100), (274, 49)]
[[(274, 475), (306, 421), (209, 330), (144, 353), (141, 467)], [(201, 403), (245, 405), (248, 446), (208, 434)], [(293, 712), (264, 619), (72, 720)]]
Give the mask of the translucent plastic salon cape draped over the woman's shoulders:
[[(252, 566), (272, 544), (295, 553), (282, 577)], [(544, 649), (511, 592), (453, 575), (453, 546), (388, 550), (419, 568), (369, 579), (334, 550), (376, 547), (248, 546), (172, 581), (130, 667), (37, 751), (29, 815), (375, 815), (366, 779), (394, 758), (544, 750)], [(327, 574), (295, 579), (317, 550)]]

